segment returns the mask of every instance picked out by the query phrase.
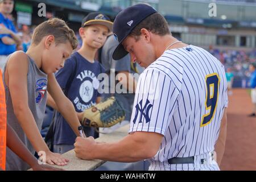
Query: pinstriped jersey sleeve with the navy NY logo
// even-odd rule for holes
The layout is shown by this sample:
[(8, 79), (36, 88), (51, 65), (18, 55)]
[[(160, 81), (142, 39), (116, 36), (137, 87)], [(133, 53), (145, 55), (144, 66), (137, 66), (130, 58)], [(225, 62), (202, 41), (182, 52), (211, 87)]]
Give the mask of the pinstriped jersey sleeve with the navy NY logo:
[(161, 71), (146, 69), (139, 77), (131, 115), (130, 130), (165, 135), (180, 89)]

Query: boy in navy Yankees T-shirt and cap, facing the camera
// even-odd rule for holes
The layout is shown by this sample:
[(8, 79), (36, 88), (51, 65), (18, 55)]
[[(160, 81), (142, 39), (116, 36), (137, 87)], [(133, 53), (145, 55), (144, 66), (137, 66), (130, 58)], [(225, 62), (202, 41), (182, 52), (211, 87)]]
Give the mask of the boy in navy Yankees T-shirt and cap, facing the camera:
[[(94, 57), (112, 31), (112, 25), (104, 14), (88, 14), (79, 29), (82, 47), (67, 59), (64, 67), (55, 75), (61, 89), (75, 106), (80, 121), (82, 111), (100, 102), (98, 75), (105, 73), (105, 69)], [(48, 97), (48, 105), (57, 109), (51, 97)], [(92, 127), (84, 127), (84, 132), (86, 137), (98, 137)], [(53, 151), (63, 154), (74, 148), (76, 135), (60, 113), (56, 113), (53, 133)]]

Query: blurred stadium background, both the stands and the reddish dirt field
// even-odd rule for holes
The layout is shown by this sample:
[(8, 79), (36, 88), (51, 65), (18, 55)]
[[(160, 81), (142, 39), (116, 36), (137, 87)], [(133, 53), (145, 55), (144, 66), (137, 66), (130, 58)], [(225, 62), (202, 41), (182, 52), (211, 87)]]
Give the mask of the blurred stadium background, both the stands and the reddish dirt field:
[[(209, 16), (212, 2), (217, 5), (216, 17)], [(38, 16), (39, 3), (46, 5), (45, 17)], [(234, 88), (249, 88), (249, 64), (256, 61), (256, 0), (22, 0), (15, 1), (10, 18), (23, 37), (19, 49), (26, 51), (34, 28), (44, 20), (55, 16), (64, 19), (79, 38), (81, 20), (88, 13), (101, 11), (114, 20), (119, 11), (136, 3), (153, 6), (164, 15), (177, 39), (207, 49), (225, 69), (232, 68)], [(255, 170), (255, 118), (246, 118), (252, 107), (249, 94), (237, 90), (237, 97), (229, 100), (228, 137), (221, 169)], [(51, 118), (52, 110), (47, 108), (43, 137)]]

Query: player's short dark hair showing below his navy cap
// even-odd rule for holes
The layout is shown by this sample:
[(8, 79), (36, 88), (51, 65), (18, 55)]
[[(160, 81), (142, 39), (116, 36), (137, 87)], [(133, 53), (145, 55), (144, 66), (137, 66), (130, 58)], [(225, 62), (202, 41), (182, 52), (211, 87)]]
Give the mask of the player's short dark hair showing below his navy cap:
[(159, 13), (154, 13), (142, 20), (141, 23), (134, 27), (133, 31), (131, 31), (130, 36), (133, 36), (135, 40), (138, 41), (139, 36), (141, 35), (142, 28), (146, 28), (153, 34), (160, 36), (171, 34), (166, 19)]

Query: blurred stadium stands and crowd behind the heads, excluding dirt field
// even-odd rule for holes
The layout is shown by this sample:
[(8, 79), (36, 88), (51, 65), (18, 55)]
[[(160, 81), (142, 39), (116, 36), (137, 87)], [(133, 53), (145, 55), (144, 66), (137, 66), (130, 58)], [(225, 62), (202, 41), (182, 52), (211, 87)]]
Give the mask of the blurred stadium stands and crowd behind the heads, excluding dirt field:
[[(53, 16), (64, 19), (77, 32), (90, 12), (101, 11), (113, 20), (122, 9), (142, 2), (164, 15), (176, 38), (208, 49), (226, 68), (232, 68), (233, 87), (249, 86), (248, 67), (256, 56), (255, 0), (23, 0), (15, 1), (13, 18), (26, 51), (35, 26)], [(211, 2), (217, 5), (216, 17), (208, 14)], [(46, 4), (46, 17), (38, 16), (39, 3)]]

